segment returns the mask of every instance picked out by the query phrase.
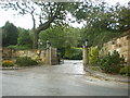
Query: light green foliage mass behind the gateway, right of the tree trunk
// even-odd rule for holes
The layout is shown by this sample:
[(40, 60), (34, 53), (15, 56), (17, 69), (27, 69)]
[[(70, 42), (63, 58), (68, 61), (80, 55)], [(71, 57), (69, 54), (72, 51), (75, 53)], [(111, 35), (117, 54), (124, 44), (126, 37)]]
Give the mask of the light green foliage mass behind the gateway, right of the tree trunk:
[(49, 29), (40, 33), (39, 37), (46, 47), (46, 41), (49, 39), (52, 47), (66, 48), (76, 47), (80, 40), (78, 28), (70, 26), (51, 26)]

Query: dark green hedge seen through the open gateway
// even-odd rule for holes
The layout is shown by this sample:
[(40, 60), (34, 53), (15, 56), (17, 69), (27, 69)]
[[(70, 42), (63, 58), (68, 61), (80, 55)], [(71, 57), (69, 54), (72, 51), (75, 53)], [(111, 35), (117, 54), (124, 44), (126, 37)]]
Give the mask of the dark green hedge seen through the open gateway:
[(82, 48), (69, 48), (65, 50), (65, 59), (69, 60), (81, 60)]

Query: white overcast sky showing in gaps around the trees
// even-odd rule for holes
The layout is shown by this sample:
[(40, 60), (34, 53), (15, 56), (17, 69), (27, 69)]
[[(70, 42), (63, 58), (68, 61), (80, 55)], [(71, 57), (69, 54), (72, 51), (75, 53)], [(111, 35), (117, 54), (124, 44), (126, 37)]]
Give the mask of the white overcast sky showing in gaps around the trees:
[[(100, 1), (104, 1), (104, 0), (100, 0)], [(122, 5), (127, 5), (127, 3), (130, 0), (105, 0), (105, 1), (113, 5), (116, 4), (117, 2), (119, 2)], [(6, 21), (9, 21), (17, 27), (20, 26), (20, 27), (23, 27), (26, 29), (32, 28), (32, 21), (31, 21), (31, 16), (29, 14), (26, 14), (24, 16), (14, 15), (14, 14), (16, 14), (15, 11), (12, 11), (12, 10), (4, 11), (4, 10), (0, 9), (0, 27), (3, 26)], [(68, 16), (70, 16), (70, 15), (68, 15)], [(74, 27), (82, 27), (83, 26), (82, 23), (81, 24), (73, 23), (70, 25)], [(37, 23), (37, 26), (38, 26), (38, 23)]]

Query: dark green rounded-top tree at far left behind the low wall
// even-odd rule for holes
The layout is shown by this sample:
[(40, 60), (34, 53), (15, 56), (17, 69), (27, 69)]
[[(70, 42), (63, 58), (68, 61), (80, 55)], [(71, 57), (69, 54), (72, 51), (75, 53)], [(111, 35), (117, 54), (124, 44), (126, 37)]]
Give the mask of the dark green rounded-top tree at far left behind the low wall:
[(16, 45), (18, 37), (17, 28), (12, 24), (6, 22), (2, 27), (2, 46), (6, 47), (9, 45)]

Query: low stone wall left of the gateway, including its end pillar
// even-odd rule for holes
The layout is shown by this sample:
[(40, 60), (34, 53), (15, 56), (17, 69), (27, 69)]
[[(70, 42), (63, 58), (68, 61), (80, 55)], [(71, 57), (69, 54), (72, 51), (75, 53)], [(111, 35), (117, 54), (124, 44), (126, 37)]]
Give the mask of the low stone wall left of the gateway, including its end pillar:
[(2, 59), (15, 59), (17, 57), (30, 57), (36, 59), (39, 57), (41, 61), (46, 64), (54, 65), (57, 64), (56, 48), (51, 48), (49, 50), (13, 50), (10, 48), (2, 48)]

